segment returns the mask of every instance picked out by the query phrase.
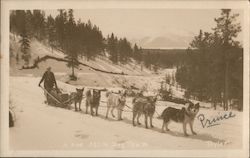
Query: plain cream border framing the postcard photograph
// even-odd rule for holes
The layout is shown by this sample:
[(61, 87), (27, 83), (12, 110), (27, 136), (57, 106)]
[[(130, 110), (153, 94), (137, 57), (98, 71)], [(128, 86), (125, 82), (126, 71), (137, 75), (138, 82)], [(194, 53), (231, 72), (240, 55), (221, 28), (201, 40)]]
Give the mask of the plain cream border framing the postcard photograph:
[[(239, 150), (92, 150), (92, 151), (10, 151), (9, 150), (9, 10), (11, 9), (101, 9), (172, 8), (244, 10), (244, 117), (243, 148)], [(140, 157), (248, 157), (249, 155), (249, 12), (248, 1), (164, 1), (164, 0), (2, 0), (1, 4), (1, 108), (0, 156), (140, 156)], [(167, 141), (167, 140), (166, 140)]]

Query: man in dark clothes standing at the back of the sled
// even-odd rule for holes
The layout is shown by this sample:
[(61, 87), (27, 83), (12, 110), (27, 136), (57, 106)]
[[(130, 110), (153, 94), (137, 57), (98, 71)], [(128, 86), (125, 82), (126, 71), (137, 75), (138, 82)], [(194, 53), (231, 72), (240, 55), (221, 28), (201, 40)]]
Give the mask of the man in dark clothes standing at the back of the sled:
[[(43, 77), (41, 79), (41, 81), (39, 82), (39, 87), (41, 86), (41, 83), (44, 81), (44, 89), (47, 92), (51, 92), (51, 90), (53, 89), (54, 85), (56, 87), (56, 89), (58, 89), (57, 87), (57, 83), (56, 83), (56, 79), (55, 79), (55, 75), (54, 73), (51, 71), (51, 67), (48, 67), (47, 70), (45, 71), (45, 73), (43, 74)], [(47, 92), (44, 92), (46, 99), (47, 99), (47, 103), (49, 104), (49, 100), (48, 97), (49, 95), (47, 94)]]

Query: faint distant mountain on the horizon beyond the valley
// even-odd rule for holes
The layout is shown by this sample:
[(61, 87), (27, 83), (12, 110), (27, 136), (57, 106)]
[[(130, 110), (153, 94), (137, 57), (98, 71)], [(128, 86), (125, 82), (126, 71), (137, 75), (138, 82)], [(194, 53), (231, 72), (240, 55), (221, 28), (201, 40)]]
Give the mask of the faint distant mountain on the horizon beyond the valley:
[(193, 36), (164, 35), (132, 39), (131, 42), (146, 49), (186, 49), (192, 39)]

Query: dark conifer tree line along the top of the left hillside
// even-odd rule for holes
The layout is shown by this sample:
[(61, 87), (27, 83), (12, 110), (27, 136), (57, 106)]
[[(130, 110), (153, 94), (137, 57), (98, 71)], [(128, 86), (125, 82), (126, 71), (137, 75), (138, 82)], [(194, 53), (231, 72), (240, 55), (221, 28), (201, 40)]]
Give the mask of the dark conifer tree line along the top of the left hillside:
[[(82, 22), (75, 20), (73, 9), (58, 10), (53, 17), (45, 16), (42, 10), (12, 10), (10, 13), (10, 31), (21, 37), (21, 57), (28, 65), (31, 58), (29, 51), (30, 40), (36, 38), (54, 49), (62, 51), (69, 60), (67, 66), (78, 67), (79, 58), (94, 60), (100, 55), (107, 55), (115, 63), (127, 63), (131, 59), (141, 62), (141, 50), (136, 44), (132, 44), (124, 37), (118, 38), (111, 33), (103, 37), (98, 26), (90, 20)], [(17, 54), (19, 56), (19, 54)], [(19, 57), (16, 57), (19, 58)]]

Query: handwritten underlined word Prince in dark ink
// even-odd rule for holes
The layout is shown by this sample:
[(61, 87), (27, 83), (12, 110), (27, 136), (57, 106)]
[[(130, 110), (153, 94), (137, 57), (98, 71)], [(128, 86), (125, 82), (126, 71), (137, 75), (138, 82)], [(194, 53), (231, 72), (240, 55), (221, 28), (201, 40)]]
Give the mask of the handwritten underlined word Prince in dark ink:
[(197, 116), (197, 118), (201, 122), (201, 125), (203, 128), (208, 128), (208, 127), (220, 125), (220, 122), (222, 120), (227, 120), (227, 119), (233, 118), (235, 116), (236, 115), (232, 111), (230, 111), (229, 113), (220, 114), (218, 116), (215, 116), (215, 117), (209, 118), (209, 119), (206, 118), (204, 114), (199, 114)]

